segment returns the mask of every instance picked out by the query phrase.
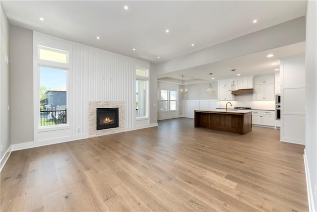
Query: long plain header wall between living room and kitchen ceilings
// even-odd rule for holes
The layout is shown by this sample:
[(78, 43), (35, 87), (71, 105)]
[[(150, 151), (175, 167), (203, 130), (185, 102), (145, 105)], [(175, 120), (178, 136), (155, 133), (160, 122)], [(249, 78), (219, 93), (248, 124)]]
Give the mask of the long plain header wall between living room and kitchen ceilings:
[(196, 67), (303, 41), (305, 41), (304, 16), (160, 63), (157, 66), (157, 74)]

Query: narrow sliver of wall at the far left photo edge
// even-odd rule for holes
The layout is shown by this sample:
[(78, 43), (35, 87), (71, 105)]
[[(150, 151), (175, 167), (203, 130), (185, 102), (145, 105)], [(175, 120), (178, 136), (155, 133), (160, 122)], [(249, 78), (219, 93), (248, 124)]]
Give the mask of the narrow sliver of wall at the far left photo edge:
[[(0, 143), (4, 156), (11, 145), (10, 141), (10, 69), (5, 63), (5, 55), (10, 56), (9, 50), (9, 21), (0, 3)], [(10, 58), (8, 58), (10, 60)], [(2, 167), (2, 164), (1, 164)]]

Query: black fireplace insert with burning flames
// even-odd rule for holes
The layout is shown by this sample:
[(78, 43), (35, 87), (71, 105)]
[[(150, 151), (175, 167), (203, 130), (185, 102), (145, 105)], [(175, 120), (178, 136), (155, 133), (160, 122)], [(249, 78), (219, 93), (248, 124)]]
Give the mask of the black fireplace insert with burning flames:
[(97, 130), (119, 127), (119, 108), (97, 108)]

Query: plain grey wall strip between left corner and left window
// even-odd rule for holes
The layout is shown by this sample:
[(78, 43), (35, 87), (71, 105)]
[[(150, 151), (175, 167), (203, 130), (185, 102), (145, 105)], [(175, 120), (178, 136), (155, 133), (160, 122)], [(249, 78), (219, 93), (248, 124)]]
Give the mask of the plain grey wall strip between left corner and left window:
[(10, 25), (10, 73), (11, 143), (34, 141), (33, 31), (12, 25)]

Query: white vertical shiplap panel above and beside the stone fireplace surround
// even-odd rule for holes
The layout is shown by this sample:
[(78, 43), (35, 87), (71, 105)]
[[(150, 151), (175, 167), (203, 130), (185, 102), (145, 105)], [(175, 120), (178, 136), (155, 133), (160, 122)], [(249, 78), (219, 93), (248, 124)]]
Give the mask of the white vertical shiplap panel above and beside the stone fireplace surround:
[(73, 44), (74, 136), (88, 135), (88, 101), (124, 101), (125, 128), (135, 127), (135, 67), (135, 59)]

